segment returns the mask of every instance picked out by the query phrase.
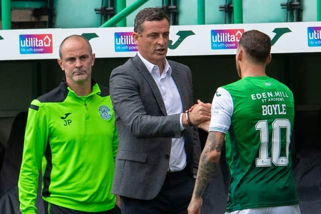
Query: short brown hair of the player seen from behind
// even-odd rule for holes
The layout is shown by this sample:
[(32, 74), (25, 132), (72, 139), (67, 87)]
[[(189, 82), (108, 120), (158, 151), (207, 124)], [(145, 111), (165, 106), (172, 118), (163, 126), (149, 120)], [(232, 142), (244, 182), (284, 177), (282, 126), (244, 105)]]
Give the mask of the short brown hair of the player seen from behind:
[(271, 52), (271, 38), (257, 30), (245, 32), (239, 42), (248, 57), (255, 63), (265, 63)]

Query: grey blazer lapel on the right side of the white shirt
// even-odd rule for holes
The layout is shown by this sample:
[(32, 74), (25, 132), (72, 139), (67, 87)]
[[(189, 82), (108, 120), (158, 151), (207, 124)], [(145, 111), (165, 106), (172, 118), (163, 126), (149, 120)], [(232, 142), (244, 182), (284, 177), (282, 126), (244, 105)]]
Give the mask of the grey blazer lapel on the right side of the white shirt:
[(183, 78), (180, 75), (179, 71), (176, 69), (176, 66), (172, 65), (172, 63), (169, 61), (171, 67), (172, 67), (172, 77), (174, 79), (174, 82), (176, 84), (177, 89), (179, 90), (182, 104), (183, 104), (183, 111), (187, 110), (189, 108), (189, 94), (186, 90), (185, 82), (182, 81)]

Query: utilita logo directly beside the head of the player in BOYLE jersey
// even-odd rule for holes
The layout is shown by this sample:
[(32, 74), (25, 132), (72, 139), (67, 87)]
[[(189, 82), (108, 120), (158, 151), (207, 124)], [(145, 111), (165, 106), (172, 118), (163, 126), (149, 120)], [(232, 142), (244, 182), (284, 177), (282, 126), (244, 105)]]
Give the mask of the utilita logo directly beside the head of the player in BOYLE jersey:
[(237, 44), (244, 34), (244, 29), (212, 30), (212, 49), (237, 49)]

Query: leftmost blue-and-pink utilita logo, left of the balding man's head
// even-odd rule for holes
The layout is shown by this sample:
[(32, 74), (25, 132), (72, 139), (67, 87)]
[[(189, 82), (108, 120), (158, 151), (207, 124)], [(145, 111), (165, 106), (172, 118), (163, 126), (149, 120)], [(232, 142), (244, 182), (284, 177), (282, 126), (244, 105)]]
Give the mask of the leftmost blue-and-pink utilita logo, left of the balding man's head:
[(19, 35), (20, 54), (51, 54), (52, 34)]

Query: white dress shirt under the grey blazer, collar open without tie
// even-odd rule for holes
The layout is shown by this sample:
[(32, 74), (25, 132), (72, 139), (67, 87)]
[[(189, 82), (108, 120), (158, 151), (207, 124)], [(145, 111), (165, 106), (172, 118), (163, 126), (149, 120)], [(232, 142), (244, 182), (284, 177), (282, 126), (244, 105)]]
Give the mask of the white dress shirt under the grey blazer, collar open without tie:
[[(137, 53), (138, 57), (146, 66), (147, 70), (151, 74), (155, 83), (158, 86), (159, 92), (161, 92), (165, 108), (168, 115), (180, 114), (180, 124), (181, 130), (184, 130), (183, 127), (183, 104), (181, 100), (180, 93), (177, 89), (177, 86), (172, 77), (172, 68), (168, 61), (166, 60), (164, 71), (161, 74), (157, 65), (154, 65), (143, 58), (139, 52)], [(186, 152), (184, 149), (184, 137), (181, 138), (172, 138), (172, 148), (170, 155), (170, 171), (182, 171), (187, 164), (186, 161)]]

